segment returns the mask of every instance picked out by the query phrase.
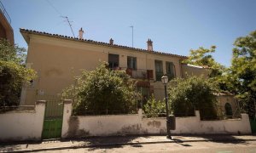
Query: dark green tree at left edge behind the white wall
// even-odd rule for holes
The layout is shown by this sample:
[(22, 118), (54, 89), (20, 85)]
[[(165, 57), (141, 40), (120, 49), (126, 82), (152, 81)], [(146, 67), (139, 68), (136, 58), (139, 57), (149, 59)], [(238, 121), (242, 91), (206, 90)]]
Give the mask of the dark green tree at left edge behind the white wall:
[(36, 77), (24, 66), (25, 51), (0, 39), (0, 106), (19, 105), (22, 84)]

